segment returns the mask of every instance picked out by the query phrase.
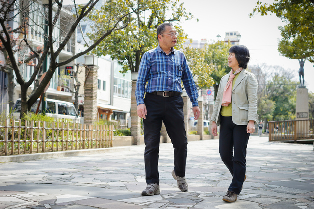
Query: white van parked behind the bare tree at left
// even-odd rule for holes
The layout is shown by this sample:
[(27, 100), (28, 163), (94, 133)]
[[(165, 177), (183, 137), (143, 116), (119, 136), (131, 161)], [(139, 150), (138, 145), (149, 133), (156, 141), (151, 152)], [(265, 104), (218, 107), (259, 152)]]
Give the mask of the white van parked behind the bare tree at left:
[[(37, 110), (37, 106), (39, 103), (39, 98), (37, 101), (31, 106), (30, 112), (35, 113)], [(74, 105), (70, 102), (61, 101), (61, 100), (53, 100), (53, 99), (46, 99), (46, 115), (49, 117), (53, 117), (56, 119), (71, 119), (75, 120), (75, 122), (80, 123), (80, 117), (74, 107)], [(20, 119), (20, 112), (21, 112), (21, 99), (17, 99), (14, 105), (14, 112), (13, 117), (14, 119)], [(39, 106), (39, 113), (41, 113), (41, 104)]]

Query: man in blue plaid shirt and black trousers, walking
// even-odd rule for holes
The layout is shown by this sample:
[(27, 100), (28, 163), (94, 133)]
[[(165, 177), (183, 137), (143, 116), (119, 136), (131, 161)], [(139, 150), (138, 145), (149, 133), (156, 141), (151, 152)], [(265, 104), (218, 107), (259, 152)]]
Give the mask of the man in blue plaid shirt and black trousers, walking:
[(180, 96), (181, 80), (192, 102), (195, 120), (200, 115), (197, 88), (185, 55), (173, 48), (177, 44), (175, 27), (171, 23), (163, 23), (157, 27), (156, 33), (159, 45), (143, 55), (135, 91), (137, 114), (143, 118), (146, 145), (144, 160), (147, 187), (142, 191), (145, 196), (160, 194), (158, 158), (162, 121), (174, 147), (172, 176), (181, 191), (188, 190), (185, 179), (187, 137), (183, 99)]

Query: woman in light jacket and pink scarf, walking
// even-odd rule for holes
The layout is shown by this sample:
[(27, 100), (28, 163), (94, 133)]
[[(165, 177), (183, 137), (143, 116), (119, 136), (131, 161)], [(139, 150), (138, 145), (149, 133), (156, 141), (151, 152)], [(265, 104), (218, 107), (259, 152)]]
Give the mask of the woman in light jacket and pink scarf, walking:
[(243, 188), (246, 147), (250, 133), (255, 131), (254, 123), (258, 123), (258, 84), (255, 75), (245, 70), (249, 60), (245, 46), (234, 45), (229, 49), (228, 66), (232, 69), (220, 80), (211, 116), (214, 136), (218, 136), (217, 124), (220, 124), (219, 153), (232, 175), (227, 194), (222, 198), (227, 202), (234, 202)]

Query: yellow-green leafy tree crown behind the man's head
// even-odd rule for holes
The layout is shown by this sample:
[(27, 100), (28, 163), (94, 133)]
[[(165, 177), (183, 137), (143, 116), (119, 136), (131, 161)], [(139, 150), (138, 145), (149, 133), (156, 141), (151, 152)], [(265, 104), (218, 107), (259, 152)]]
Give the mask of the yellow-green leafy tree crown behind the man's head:
[[(134, 11), (128, 16), (128, 26), (124, 29), (112, 32), (110, 37), (105, 38), (95, 47), (93, 53), (96, 55), (110, 55), (117, 59), (123, 66), (123, 72), (131, 70), (138, 72), (142, 55), (158, 45), (156, 28), (163, 22), (179, 22), (188, 20), (193, 16), (185, 11), (180, 0), (110, 0), (115, 5), (114, 13)], [(89, 34), (91, 40), (97, 40), (106, 30), (108, 9), (103, 6), (101, 10), (89, 16), (94, 22), (93, 31), (99, 34)], [(178, 36), (177, 47), (183, 46), (187, 37), (181, 26), (175, 26)]]

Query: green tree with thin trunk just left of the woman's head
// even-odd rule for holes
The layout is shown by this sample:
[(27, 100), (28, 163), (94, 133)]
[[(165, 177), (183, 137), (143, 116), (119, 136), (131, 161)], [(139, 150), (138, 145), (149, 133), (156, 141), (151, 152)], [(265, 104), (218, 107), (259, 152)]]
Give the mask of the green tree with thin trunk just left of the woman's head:
[(214, 66), (214, 70), (211, 73), (211, 77), (214, 81), (215, 89), (215, 100), (217, 97), (217, 92), (219, 88), (219, 83), (221, 78), (230, 72), (231, 68), (228, 67), (228, 55), (229, 48), (231, 47), (230, 43), (225, 42), (216, 42), (214, 44), (206, 45), (206, 55), (205, 62), (209, 65)]

